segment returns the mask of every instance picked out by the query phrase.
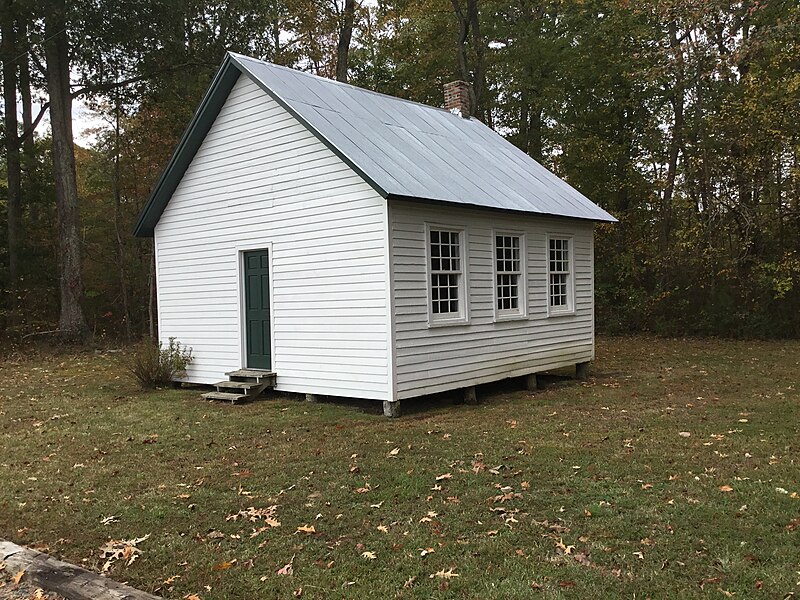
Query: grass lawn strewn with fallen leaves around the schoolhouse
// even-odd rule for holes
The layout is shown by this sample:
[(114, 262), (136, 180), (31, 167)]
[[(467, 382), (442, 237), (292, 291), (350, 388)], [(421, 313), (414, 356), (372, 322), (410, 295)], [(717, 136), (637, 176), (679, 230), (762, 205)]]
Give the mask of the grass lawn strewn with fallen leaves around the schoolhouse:
[(0, 537), (99, 570), (149, 536), (109, 573), (167, 598), (800, 595), (800, 343), (597, 356), (399, 420), (144, 393), (119, 354), (8, 359)]

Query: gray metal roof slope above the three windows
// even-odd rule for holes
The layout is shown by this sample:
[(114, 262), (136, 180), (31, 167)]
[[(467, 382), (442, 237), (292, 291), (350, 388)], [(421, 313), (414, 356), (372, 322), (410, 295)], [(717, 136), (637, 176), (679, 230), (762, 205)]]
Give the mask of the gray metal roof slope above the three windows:
[(383, 196), (616, 221), (477, 119), (230, 57)]

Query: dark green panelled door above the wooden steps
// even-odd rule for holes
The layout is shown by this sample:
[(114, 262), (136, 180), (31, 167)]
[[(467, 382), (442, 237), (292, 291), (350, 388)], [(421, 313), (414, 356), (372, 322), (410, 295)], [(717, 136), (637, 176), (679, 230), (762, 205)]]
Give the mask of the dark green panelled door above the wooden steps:
[(247, 367), (271, 369), (269, 253), (266, 250), (244, 253), (244, 286)]

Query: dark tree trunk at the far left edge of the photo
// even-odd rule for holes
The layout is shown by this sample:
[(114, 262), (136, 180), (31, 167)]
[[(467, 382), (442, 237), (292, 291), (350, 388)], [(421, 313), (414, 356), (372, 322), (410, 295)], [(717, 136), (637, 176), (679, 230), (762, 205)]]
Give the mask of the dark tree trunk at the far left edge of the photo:
[[(6, 107), (6, 169), (8, 178), (8, 278), (12, 297), (19, 284), (20, 241), (22, 240), (22, 184), (19, 152), (19, 124), (17, 122), (17, 44), (14, 34), (14, 16), (11, 0), (3, 3), (3, 19), (0, 23), (3, 56), (3, 102)], [(12, 304), (14, 301), (12, 300)]]

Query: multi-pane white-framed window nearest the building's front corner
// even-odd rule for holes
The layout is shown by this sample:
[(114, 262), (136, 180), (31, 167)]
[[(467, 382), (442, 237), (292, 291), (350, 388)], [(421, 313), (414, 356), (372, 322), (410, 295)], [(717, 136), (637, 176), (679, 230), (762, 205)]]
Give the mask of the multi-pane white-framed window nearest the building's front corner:
[(464, 321), (464, 232), (433, 227), (428, 231), (431, 321)]

